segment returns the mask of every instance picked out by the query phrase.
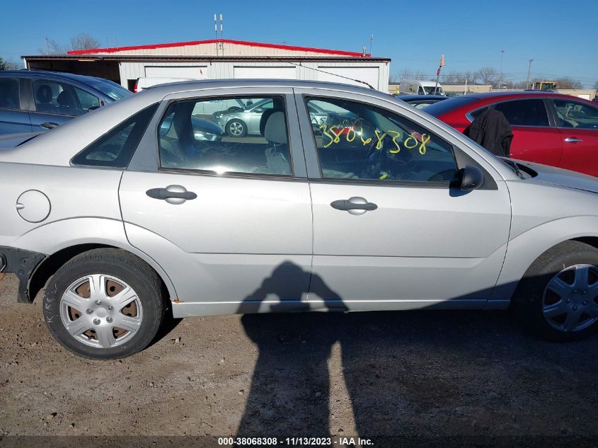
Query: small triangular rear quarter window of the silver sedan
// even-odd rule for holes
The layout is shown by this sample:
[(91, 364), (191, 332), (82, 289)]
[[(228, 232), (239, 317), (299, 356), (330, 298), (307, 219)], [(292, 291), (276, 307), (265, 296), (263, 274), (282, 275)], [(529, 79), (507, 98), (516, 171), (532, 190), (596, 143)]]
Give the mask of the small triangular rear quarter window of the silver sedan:
[(79, 166), (127, 168), (156, 108), (158, 103), (120, 123), (74, 156), (71, 163)]

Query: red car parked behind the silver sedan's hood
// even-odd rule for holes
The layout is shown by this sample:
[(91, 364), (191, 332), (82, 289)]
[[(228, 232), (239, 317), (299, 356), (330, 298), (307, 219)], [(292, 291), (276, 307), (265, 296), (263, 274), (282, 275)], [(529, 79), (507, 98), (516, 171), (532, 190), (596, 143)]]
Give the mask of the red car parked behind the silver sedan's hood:
[(509, 120), (513, 159), (598, 177), (597, 103), (550, 92), (492, 92), (450, 98), (425, 111), (463, 132), (486, 108)]

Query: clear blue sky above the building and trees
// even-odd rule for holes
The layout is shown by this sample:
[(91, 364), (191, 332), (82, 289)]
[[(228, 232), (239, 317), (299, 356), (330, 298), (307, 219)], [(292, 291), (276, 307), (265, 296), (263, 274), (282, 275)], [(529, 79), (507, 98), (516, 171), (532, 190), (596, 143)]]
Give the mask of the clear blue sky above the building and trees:
[[(206, 6), (209, 4), (209, 6)], [(217, 6), (222, 4), (222, 6)], [(598, 81), (597, 0), (500, 1), (10, 1), (2, 8), (0, 57), (39, 54), (45, 38), (67, 45), (89, 33), (103, 46), (214, 38), (214, 13), (224, 14), (224, 38), (390, 57), (403, 69), (434, 74), (500, 68), (507, 80), (571, 76)], [(24, 25), (26, 23), (26, 26)]]

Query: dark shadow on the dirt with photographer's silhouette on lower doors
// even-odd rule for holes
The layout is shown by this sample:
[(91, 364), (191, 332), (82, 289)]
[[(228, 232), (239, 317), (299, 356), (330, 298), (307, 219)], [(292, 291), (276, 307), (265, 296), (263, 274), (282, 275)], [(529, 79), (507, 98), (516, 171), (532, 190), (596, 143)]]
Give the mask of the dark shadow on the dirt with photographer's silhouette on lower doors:
[[(302, 282), (288, 280), (306, 272), (284, 265), (240, 312), (258, 311), (268, 294), (280, 297), (272, 312), (301, 298), (304, 291), (289, 285)], [(311, 290), (342, 309), (321, 278)], [(597, 350), (597, 338), (547, 343), (505, 311), (245, 314), (241, 321), (258, 360), (239, 437), (346, 435), (352, 428), (335, 426), (334, 412), (352, 413), (365, 437), (597, 434), (598, 359), (585, 355)], [(330, 363), (333, 350), (340, 364)], [(342, 397), (330, 397), (343, 382), (348, 410)]]

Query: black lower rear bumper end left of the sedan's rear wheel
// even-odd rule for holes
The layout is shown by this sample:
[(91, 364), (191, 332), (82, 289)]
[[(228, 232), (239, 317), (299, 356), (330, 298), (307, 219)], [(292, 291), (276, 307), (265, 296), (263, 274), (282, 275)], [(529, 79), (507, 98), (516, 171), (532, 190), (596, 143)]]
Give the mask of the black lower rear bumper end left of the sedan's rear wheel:
[(45, 257), (43, 253), (0, 246), (0, 280), (6, 273), (13, 273), (18, 277), (17, 301), (25, 304), (33, 301), (29, 296), (29, 282)]

